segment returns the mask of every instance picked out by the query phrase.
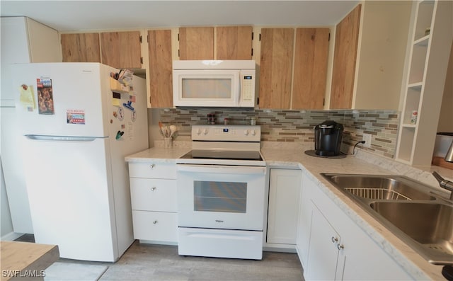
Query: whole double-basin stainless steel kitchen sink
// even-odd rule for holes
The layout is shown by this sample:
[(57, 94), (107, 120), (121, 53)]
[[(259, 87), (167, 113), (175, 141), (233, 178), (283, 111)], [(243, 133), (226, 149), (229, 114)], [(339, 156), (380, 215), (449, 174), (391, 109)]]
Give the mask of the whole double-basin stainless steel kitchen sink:
[(453, 265), (453, 202), (405, 176), (321, 173), (428, 262)]

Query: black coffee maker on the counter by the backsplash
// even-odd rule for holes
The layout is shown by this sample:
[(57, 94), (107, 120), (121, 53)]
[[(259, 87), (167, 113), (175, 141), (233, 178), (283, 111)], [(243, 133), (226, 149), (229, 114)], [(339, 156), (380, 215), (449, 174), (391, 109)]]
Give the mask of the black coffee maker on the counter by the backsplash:
[(314, 149), (319, 156), (340, 154), (343, 125), (335, 121), (324, 121), (314, 127)]

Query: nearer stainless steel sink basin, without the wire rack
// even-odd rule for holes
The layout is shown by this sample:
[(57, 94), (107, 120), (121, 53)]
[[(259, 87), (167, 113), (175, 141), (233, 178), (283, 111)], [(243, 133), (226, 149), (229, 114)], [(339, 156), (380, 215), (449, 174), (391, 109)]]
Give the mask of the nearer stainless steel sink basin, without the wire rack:
[[(425, 202), (372, 202), (372, 210), (418, 243), (435, 264), (453, 263), (453, 206)], [(406, 239), (407, 240), (407, 239)], [(407, 243), (407, 241), (406, 241)]]

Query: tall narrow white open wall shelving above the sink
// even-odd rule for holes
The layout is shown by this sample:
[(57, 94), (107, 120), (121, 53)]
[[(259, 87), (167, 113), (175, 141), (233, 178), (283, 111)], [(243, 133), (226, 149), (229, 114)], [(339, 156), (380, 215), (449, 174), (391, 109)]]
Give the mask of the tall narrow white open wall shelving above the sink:
[(413, 34), (396, 147), (396, 160), (412, 166), (431, 164), (447, 71), (445, 57), (449, 57), (452, 44), (452, 3), (448, 2), (418, 1), (413, 9)]

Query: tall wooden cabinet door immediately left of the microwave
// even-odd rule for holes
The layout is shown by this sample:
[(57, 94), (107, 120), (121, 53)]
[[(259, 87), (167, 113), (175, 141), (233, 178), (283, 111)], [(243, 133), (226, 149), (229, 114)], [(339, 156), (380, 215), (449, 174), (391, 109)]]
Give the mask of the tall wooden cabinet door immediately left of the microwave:
[(171, 75), (171, 30), (148, 31), (149, 104), (151, 108), (173, 107)]

